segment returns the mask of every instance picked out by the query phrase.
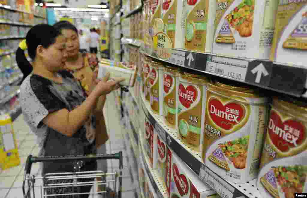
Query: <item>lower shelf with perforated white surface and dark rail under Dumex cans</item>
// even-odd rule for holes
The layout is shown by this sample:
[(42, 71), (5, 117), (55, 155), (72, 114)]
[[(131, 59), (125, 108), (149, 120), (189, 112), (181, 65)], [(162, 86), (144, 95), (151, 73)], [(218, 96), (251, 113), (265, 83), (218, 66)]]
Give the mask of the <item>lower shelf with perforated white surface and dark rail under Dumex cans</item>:
[(221, 178), (218, 174), (212, 172), (202, 161), (201, 154), (189, 148), (177, 136), (177, 131), (169, 128), (162, 121), (162, 116), (154, 114), (144, 97), (142, 103), (146, 109), (143, 109), (151, 124), (156, 129), (157, 133), (162, 137), (169, 146), (204, 182), (211, 186), (222, 197), (227, 195), (228, 198), (261, 198), (256, 186), (256, 179), (244, 183), (235, 184)]

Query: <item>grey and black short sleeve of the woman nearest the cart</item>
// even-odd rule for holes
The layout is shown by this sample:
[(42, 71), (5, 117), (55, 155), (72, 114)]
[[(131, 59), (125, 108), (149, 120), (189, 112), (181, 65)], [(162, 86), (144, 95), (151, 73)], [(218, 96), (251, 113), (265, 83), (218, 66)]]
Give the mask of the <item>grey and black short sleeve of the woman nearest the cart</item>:
[(49, 89), (51, 83), (36, 75), (28, 76), (21, 85), (22, 113), (33, 128), (40, 128), (41, 121), (52, 112), (65, 108), (64, 103)]

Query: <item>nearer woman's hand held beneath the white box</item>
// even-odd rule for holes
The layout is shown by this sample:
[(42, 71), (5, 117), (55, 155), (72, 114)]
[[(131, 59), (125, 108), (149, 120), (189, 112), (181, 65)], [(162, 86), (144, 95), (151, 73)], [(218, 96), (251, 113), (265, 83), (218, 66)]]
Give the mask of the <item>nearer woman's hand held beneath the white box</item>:
[(111, 91), (118, 89), (119, 83), (124, 81), (125, 78), (119, 78), (116, 80), (109, 80), (110, 73), (107, 72), (107, 74), (100, 80), (100, 82), (97, 83), (97, 85), (94, 88), (94, 91), (97, 91), (99, 96), (106, 95), (108, 93), (111, 93)]

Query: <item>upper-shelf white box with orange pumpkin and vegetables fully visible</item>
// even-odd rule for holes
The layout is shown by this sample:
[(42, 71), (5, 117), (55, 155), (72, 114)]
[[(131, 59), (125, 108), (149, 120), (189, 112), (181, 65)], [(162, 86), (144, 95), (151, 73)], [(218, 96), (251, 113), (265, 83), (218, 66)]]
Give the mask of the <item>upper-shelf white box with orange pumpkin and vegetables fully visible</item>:
[(217, 0), (215, 54), (268, 59), (278, 0)]

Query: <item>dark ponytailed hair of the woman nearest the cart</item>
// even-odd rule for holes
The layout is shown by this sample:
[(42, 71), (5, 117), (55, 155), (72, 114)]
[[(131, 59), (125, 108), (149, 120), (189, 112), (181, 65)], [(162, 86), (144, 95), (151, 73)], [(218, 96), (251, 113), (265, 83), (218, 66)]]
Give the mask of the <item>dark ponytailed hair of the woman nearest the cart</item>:
[[(26, 44), (30, 58), (32, 60), (35, 59), (37, 46), (42, 45), (44, 48), (48, 48), (55, 43), (56, 37), (59, 35), (61, 33), (51, 25), (39, 24), (31, 28), (26, 36)], [(32, 72), (33, 68), (21, 48), (18, 48), (16, 51), (16, 62), (23, 74), (23, 81)]]

